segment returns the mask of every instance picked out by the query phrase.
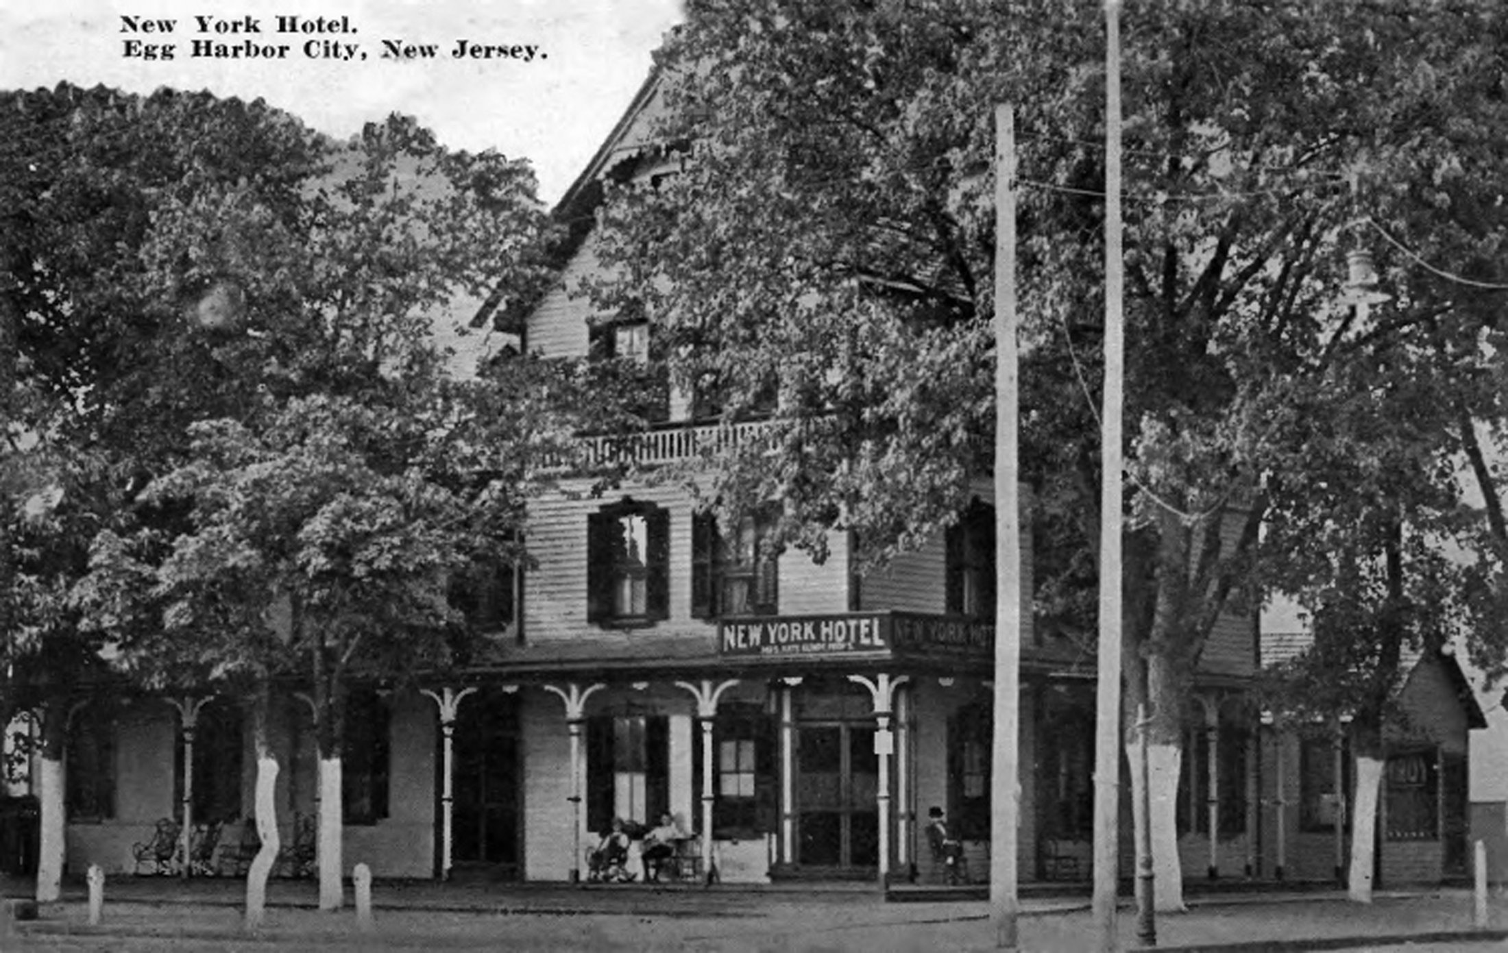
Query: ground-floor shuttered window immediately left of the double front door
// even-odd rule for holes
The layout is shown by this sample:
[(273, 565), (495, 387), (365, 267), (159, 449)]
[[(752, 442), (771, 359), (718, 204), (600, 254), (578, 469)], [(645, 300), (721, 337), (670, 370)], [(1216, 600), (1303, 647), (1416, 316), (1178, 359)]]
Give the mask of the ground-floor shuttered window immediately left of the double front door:
[[(749, 701), (725, 701), (713, 724), (712, 831), (739, 840), (775, 829), (775, 719)], [(697, 746), (700, 761), (701, 746)], [(697, 765), (697, 775), (701, 765)], [(697, 789), (700, 793), (700, 787)]]

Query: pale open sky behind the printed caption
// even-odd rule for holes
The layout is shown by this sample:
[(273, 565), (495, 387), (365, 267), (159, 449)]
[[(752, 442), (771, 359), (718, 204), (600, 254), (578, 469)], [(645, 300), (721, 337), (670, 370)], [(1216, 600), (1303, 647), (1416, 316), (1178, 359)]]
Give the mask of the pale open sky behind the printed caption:
[[(277, 32), (280, 15), (354, 32)], [(650, 53), (679, 20), (680, 0), (11, 3), (0, 6), (0, 89), (65, 80), (137, 93), (208, 89), (267, 100), (342, 139), (391, 112), (407, 113), (449, 148), (531, 160), (540, 198), (553, 202), (623, 115)], [(249, 44), (264, 54), (193, 56), (195, 41), (223, 45), (210, 53)], [(400, 54), (385, 56), (383, 41)], [(461, 41), (466, 56), (454, 57)]]

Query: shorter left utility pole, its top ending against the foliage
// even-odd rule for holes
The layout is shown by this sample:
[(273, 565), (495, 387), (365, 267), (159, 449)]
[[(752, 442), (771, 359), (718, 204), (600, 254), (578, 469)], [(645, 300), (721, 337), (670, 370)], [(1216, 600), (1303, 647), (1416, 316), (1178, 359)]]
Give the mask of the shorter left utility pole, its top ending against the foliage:
[(995, 107), (995, 718), (989, 781), (989, 914), (995, 948), (1016, 948), (1021, 783), (1021, 492), (1016, 473), (1016, 125)]

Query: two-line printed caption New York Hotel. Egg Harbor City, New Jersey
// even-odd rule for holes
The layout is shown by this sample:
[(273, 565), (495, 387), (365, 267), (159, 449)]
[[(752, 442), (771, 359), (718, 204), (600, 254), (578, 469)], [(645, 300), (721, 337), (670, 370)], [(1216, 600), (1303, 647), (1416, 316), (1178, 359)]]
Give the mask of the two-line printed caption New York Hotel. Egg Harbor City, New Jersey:
[[(305, 59), (365, 60), (366, 50), (359, 42), (344, 42), (332, 36), (357, 33), (350, 17), (211, 17), (195, 15), (188, 20), (154, 20), (121, 15), (121, 33), (127, 33), (122, 56), (128, 59), (170, 60), (179, 53), (178, 42), (163, 42), (176, 36), (179, 24), (184, 33), (198, 33), (187, 39), (188, 59)], [(302, 44), (267, 42), (268, 35), (305, 35)], [(547, 54), (537, 44), (486, 44), (474, 39), (457, 39), (454, 45), (409, 42), (407, 39), (380, 39), (377, 57), (385, 60), (519, 60), (534, 62)]]

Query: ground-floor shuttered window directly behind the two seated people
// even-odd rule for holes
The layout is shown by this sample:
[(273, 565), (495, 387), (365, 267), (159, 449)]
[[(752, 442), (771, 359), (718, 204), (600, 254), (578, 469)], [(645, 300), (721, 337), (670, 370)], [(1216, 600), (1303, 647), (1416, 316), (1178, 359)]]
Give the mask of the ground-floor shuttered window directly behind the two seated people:
[(670, 727), (662, 715), (603, 715), (587, 721), (587, 826), (614, 817), (659, 823), (670, 810)]

